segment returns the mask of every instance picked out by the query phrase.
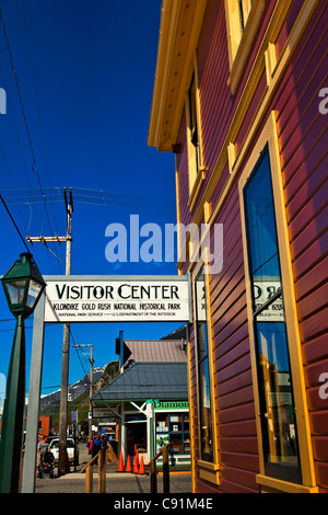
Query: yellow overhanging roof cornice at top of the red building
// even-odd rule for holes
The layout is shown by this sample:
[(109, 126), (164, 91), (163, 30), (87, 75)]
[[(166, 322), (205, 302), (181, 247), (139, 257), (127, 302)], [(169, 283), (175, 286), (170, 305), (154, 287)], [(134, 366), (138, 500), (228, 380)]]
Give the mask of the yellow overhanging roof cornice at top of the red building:
[(163, 0), (148, 145), (171, 151), (192, 73), (207, 0)]

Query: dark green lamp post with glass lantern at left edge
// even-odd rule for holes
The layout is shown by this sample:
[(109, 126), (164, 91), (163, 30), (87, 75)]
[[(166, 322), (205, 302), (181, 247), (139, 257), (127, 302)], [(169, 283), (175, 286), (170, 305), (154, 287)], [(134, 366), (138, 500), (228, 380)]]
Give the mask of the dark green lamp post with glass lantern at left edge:
[(20, 255), (1, 282), (16, 327), (2, 415), (0, 493), (17, 493), (25, 405), (25, 319), (33, 313), (46, 283), (28, 252)]

